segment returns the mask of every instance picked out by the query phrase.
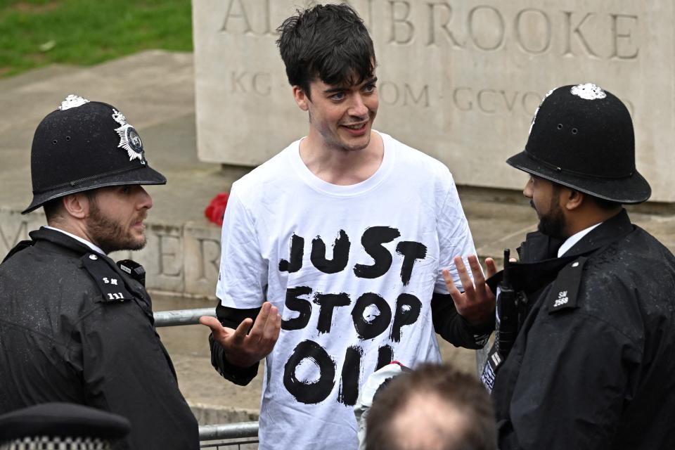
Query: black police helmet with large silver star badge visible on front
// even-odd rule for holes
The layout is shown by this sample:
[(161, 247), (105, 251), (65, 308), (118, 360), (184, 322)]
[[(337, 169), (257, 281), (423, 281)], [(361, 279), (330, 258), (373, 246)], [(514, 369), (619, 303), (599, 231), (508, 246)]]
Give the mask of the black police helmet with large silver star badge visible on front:
[(117, 108), (68, 96), (37, 126), (30, 155), (31, 212), (53, 198), (122, 184), (166, 184)]

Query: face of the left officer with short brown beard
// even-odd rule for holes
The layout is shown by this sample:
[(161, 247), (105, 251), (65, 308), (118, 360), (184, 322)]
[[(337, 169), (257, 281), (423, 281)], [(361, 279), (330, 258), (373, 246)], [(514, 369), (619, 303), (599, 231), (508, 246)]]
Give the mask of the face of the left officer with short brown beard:
[(98, 188), (92, 200), (86, 226), (101, 250), (141, 250), (146, 245), (143, 220), (153, 207), (153, 199), (145, 189), (133, 184)]

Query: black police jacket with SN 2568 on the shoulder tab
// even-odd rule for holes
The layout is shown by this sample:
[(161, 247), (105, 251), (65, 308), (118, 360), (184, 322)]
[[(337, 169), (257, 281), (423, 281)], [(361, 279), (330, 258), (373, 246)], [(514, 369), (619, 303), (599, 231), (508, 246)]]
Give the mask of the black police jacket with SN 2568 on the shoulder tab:
[(675, 449), (675, 257), (625, 210), (528, 264), (537, 241), (513, 277), (532, 309), (492, 391), (499, 448)]

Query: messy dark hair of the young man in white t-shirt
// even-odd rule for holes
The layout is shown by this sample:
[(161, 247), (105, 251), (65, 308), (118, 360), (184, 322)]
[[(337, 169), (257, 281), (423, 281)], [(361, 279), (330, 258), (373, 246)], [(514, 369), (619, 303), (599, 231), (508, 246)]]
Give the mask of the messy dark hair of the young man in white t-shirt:
[(361, 84), (373, 77), (373, 40), (364, 21), (347, 4), (297, 10), (277, 31), (288, 82), (300, 86), (308, 97), (309, 84), (317, 77), (333, 85)]

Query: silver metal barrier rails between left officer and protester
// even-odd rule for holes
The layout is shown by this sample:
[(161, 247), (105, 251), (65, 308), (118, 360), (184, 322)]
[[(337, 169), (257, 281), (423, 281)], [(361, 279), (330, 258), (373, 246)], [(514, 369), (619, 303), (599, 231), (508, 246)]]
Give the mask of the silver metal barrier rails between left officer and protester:
[[(215, 308), (180, 309), (155, 312), (155, 326), (181, 326), (199, 323), (201, 316), (216, 316)], [(258, 423), (239, 422), (202, 425), (199, 428), (201, 449), (257, 449)]]

